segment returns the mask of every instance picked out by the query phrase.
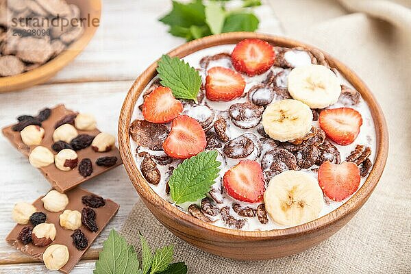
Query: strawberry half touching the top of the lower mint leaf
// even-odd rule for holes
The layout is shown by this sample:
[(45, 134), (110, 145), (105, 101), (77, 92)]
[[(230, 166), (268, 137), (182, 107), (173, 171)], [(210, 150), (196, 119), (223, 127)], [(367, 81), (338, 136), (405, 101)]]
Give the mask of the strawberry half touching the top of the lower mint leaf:
[(173, 120), (163, 149), (173, 158), (186, 159), (203, 151), (206, 145), (206, 133), (199, 122), (190, 116), (182, 115)]

